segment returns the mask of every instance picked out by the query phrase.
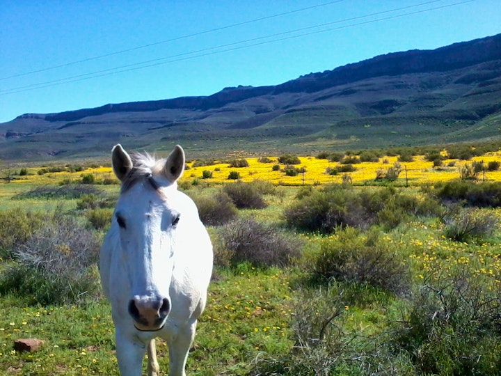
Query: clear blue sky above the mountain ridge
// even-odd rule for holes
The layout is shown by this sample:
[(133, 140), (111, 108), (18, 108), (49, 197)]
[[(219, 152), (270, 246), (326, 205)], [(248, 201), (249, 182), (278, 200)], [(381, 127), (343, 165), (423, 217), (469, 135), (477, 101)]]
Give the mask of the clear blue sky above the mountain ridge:
[[(2, 0), (0, 123), (501, 33), (499, 0)], [(148, 66), (149, 65), (149, 66)]]

